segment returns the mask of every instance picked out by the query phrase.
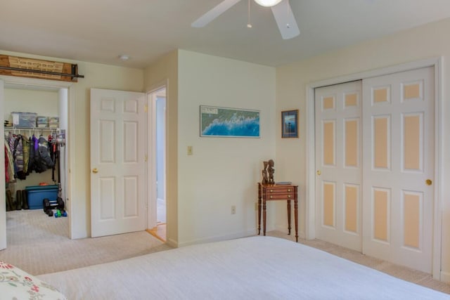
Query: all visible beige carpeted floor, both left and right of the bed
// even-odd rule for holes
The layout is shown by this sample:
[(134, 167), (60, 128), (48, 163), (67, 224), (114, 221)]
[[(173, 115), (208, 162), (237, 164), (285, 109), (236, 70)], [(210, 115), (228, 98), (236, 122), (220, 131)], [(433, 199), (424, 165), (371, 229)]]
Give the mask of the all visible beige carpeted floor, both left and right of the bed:
[[(6, 218), (8, 248), (0, 251), (0, 260), (12, 263), (33, 275), (70, 270), (171, 249), (146, 231), (70, 240), (68, 218), (49, 217), (40, 209), (8, 211)], [(267, 235), (295, 240), (293, 235), (279, 231), (271, 231)], [(374, 259), (321, 240), (299, 239), (299, 242), (375, 268), (394, 277), (450, 294), (450, 285), (433, 280), (430, 274)]]

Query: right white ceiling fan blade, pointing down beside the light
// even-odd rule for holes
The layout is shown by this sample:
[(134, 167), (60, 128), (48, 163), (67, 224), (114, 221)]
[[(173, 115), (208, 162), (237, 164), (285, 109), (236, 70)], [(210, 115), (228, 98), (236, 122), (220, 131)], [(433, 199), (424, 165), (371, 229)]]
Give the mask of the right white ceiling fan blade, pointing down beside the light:
[(283, 0), (271, 9), (283, 39), (292, 39), (300, 34), (289, 0)]

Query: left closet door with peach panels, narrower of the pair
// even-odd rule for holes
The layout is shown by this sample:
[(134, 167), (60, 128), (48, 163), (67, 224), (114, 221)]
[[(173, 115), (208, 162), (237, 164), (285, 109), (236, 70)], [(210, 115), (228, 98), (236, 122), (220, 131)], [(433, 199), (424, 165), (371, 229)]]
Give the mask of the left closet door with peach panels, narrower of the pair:
[(315, 97), (316, 237), (361, 251), (361, 81)]

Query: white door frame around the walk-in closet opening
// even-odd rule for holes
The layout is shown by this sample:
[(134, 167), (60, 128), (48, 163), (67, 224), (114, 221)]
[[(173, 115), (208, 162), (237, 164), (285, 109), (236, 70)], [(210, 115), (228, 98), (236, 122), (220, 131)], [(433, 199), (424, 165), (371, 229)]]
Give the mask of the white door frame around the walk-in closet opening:
[[(14, 77), (7, 75), (0, 75), (0, 114), (4, 114), (4, 85), (5, 84), (18, 84), (23, 86), (39, 86), (49, 89), (67, 89), (68, 90), (68, 130), (67, 130), (67, 143), (66, 143), (66, 155), (68, 157), (68, 165), (66, 166), (66, 172), (68, 173), (67, 185), (68, 191), (66, 191), (66, 199), (68, 199), (69, 211), (72, 212), (72, 192), (73, 176), (70, 174), (72, 166), (75, 166), (74, 155), (75, 153), (75, 88), (72, 86), (73, 82), (70, 81), (54, 81), (49, 79), (36, 79), (27, 77)], [(0, 134), (4, 135), (4, 127), (1, 126)], [(66, 138), (67, 138), (66, 137)], [(4, 165), (4, 155), (0, 155), (0, 164)], [(0, 172), (0, 188), (5, 189), (4, 172)], [(6, 242), (6, 209), (5, 209), (5, 194), (0, 193), (0, 228), (3, 228), (0, 232), (0, 249), (7, 247)], [(72, 214), (68, 215), (69, 219), (69, 238), (72, 239), (72, 228), (75, 218), (72, 218)]]

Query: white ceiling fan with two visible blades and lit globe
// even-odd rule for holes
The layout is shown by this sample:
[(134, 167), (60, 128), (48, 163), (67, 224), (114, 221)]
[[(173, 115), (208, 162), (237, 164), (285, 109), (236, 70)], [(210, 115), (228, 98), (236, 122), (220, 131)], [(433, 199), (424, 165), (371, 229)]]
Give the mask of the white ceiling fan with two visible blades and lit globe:
[[(219, 5), (212, 8), (212, 10), (202, 15), (195, 20), (192, 27), (204, 27), (209, 22), (219, 17), (222, 13), (227, 11), (231, 6), (237, 4), (240, 0), (224, 0)], [(270, 7), (272, 13), (278, 25), (278, 29), (281, 32), (283, 39), (292, 39), (300, 34), (297, 22), (293, 14), (293, 10), (290, 8), (289, 0), (255, 0), (260, 6)]]

